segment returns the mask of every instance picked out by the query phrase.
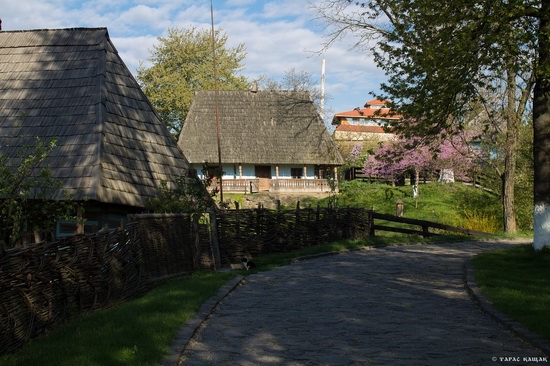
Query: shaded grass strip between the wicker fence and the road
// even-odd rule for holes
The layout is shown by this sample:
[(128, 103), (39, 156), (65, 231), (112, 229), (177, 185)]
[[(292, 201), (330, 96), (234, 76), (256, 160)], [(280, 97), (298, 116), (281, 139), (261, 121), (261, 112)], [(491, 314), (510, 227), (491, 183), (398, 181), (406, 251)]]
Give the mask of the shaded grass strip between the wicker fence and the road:
[[(456, 238), (431, 238), (429, 241)], [(254, 258), (258, 266), (255, 271), (199, 272), (174, 279), (138, 299), (75, 318), (59, 329), (31, 340), (17, 352), (0, 356), (0, 365), (156, 365), (183, 324), (204, 301), (238, 274), (270, 270), (289, 264), (293, 258), (300, 256), (426, 241), (420, 236), (404, 235), (338, 241)]]

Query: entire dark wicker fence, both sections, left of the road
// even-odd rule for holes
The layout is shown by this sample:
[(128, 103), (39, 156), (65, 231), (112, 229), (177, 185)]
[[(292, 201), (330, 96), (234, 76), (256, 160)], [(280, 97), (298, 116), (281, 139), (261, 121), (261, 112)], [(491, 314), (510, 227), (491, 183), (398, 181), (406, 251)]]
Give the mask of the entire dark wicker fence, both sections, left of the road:
[[(124, 228), (0, 253), (0, 354), (159, 280), (369, 233), (363, 209), (133, 215)], [(204, 218), (203, 218), (204, 219)]]

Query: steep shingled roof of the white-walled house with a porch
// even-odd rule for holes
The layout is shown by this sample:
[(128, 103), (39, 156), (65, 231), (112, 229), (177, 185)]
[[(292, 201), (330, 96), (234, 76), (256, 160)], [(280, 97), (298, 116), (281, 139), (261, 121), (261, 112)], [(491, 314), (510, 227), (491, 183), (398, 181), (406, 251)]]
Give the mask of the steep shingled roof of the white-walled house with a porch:
[[(219, 91), (223, 163), (341, 165), (308, 93)], [(178, 146), (190, 163), (218, 161), (216, 92), (198, 91)]]

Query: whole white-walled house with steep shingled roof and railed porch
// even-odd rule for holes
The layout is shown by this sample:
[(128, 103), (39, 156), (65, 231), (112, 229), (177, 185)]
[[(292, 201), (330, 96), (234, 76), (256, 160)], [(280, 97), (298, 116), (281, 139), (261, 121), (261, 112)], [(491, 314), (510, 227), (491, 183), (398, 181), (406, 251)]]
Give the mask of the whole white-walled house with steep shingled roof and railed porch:
[(225, 191), (329, 191), (343, 159), (308, 93), (195, 93), (178, 146), (200, 170), (218, 164), (216, 104)]

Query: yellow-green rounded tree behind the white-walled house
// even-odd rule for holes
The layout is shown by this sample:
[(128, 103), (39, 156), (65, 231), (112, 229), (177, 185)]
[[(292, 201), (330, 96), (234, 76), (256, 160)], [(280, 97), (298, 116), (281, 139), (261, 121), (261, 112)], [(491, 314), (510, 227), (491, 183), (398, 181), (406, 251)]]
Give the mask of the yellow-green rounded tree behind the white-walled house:
[(171, 133), (177, 137), (197, 90), (246, 90), (249, 83), (237, 73), (243, 69), (244, 44), (227, 47), (227, 35), (214, 35), (217, 82), (214, 78), (212, 34), (196, 27), (168, 29), (159, 37), (149, 61), (138, 69), (137, 79)]

